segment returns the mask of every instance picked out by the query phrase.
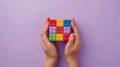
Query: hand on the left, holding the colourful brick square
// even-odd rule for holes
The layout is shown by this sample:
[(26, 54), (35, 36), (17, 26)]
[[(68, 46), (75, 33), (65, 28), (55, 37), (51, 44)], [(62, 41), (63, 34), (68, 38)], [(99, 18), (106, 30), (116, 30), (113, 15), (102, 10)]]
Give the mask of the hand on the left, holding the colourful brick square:
[(44, 67), (55, 67), (58, 61), (59, 54), (55, 44), (50, 42), (47, 36), (49, 25), (48, 20), (49, 18), (47, 18), (45, 27), (41, 33), (41, 43), (47, 57)]

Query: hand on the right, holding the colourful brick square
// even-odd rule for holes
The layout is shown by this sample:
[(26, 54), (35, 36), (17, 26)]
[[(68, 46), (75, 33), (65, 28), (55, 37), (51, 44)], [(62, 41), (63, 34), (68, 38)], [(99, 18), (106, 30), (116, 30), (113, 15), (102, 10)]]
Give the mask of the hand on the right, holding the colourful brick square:
[(65, 46), (65, 57), (69, 67), (79, 67), (77, 56), (81, 46), (81, 40), (74, 19), (71, 19), (71, 21), (74, 33), (70, 35), (69, 41)]

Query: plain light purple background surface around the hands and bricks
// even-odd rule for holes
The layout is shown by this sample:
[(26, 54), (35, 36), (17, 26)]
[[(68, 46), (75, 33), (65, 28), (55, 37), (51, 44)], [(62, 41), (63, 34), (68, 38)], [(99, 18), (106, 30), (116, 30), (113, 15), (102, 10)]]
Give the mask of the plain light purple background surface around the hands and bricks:
[[(120, 67), (120, 0), (0, 0), (0, 67), (43, 67), (47, 16), (76, 19), (81, 67)], [(57, 67), (66, 67), (64, 43), (57, 45)]]

